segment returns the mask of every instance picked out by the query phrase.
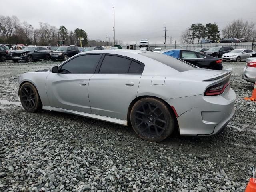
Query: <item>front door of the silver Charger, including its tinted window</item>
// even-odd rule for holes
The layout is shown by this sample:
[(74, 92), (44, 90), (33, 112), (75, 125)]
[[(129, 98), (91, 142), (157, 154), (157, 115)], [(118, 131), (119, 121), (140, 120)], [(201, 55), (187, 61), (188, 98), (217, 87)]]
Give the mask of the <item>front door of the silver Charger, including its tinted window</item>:
[(88, 85), (100, 58), (101, 54), (80, 55), (60, 66), (58, 73), (50, 73), (46, 92), (51, 106), (91, 113)]

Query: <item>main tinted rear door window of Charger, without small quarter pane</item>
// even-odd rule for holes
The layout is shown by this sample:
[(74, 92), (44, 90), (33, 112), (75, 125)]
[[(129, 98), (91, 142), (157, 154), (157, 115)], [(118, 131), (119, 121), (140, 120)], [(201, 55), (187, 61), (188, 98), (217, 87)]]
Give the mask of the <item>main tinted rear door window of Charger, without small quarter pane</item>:
[(102, 65), (100, 67), (100, 73), (111, 73), (111, 74), (127, 73), (130, 67), (130, 63), (131, 63), (130, 59), (126, 59), (118, 56), (106, 55), (104, 57), (104, 60), (102, 61)]

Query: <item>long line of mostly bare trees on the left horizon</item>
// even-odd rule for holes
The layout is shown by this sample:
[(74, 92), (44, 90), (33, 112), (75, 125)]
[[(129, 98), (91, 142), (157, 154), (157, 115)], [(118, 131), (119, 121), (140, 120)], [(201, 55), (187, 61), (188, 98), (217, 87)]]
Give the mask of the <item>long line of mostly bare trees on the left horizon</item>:
[(16, 16), (0, 16), (0, 43), (27, 45), (56, 45), (59, 40), (64, 44), (80, 45), (78, 37), (83, 37), (82, 46), (88, 45), (87, 33), (83, 29), (68, 31), (65, 26), (51, 26), (39, 22), (39, 28), (34, 28), (28, 22), (20, 22)]

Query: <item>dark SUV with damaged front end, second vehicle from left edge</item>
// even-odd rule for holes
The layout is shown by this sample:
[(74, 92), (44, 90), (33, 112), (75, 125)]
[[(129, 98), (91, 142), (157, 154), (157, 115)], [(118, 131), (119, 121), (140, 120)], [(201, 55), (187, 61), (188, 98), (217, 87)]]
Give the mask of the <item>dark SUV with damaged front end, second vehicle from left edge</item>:
[(27, 46), (19, 51), (11, 53), (12, 61), (18, 62), (24, 60), (26, 62), (36, 61), (38, 59), (50, 59), (50, 51), (43, 46)]

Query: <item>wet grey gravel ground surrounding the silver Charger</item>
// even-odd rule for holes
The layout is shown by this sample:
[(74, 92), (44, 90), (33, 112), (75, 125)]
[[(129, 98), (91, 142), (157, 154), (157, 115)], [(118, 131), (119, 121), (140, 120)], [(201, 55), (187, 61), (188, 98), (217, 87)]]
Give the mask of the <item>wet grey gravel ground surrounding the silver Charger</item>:
[(18, 76), (60, 62), (0, 62), (0, 191), (244, 191), (256, 166), (253, 84), (233, 68), (236, 115), (209, 137), (172, 135), (144, 141), (131, 127), (70, 114), (28, 113)]

